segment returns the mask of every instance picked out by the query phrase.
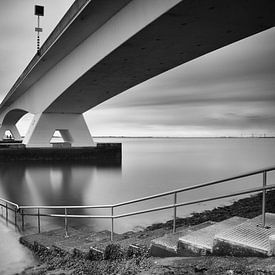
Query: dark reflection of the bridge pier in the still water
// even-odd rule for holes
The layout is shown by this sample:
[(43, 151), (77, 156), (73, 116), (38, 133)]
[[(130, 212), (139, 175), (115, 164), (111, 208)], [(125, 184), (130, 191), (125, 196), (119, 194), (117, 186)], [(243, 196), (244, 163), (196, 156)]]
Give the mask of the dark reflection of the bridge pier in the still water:
[[(89, 163), (22, 163), (2, 164), (0, 168), (1, 197), (19, 205), (92, 205), (93, 185), (97, 174), (107, 174), (116, 181), (121, 178), (121, 166), (95, 166)], [(104, 183), (102, 183), (104, 184)], [(102, 186), (103, 187), (103, 186)], [(103, 188), (104, 189), (104, 188)], [(36, 211), (36, 210), (33, 210)], [(33, 213), (28, 211), (28, 213)], [(43, 210), (41, 213), (63, 213), (64, 210)], [(85, 209), (70, 210), (70, 214), (92, 214)], [(71, 226), (87, 224), (81, 219), (71, 219)], [(89, 220), (90, 226), (95, 226)], [(37, 221), (25, 217), (26, 230), (37, 230)], [(43, 218), (43, 230), (63, 225), (62, 219)]]

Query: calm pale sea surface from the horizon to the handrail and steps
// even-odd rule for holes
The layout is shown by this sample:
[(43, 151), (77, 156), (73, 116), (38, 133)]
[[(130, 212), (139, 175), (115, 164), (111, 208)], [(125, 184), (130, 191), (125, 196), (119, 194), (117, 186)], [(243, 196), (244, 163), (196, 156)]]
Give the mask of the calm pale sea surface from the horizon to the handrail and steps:
[[(96, 141), (122, 142), (122, 165), (102, 167), (77, 163), (1, 164), (0, 196), (19, 205), (113, 204), (275, 166), (275, 139), (272, 138), (131, 138)], [(275, 173), (270, 173), (268, 182), (274, 183), (274, 180)], [(179, 195), (178, 201), (190, 201), (223, 192), (256, 187), (260, 186), (261, 182), (261, 176), (253, 176), (203, 190), (190, 191)], [(179, 208), (177, 216), (186, 216), (191, 212), (213, 208), (217, 204), (223, 205), (232, 200), (231, 198)], [(173, 196), (168, 196), (121, 207), (115, 210), (115, 214), (172, 202)], [(106, 210), (97, 212), (82, 210), (75, 213), (110, 214)], [(172, 213), (171, 209), (116, 220), (115, 231), (123, 232), (145, 227), (154, 222), (166, 221), (172, 218)], [(26, 217), (25, 222), (27, 230), (36, 230), (36, 220)], [(81, 224), (89, 224), (95, 230), (110, 228), (110, 221), (103, 219), (69, 220), (69, 225)], [(62, 225), (63, 220), (42, 218), (41, 221), (42, 230)], [(4, 225), (0, 226), (1, 235), (3, 230), (8, 229)], [(5, 244), (1, 242), (1, 246)], [(19, 248), (14, 249), (17, 251)], [(0, 259), (0, 267), (4, 266), (3, 261), (5, 260)]]

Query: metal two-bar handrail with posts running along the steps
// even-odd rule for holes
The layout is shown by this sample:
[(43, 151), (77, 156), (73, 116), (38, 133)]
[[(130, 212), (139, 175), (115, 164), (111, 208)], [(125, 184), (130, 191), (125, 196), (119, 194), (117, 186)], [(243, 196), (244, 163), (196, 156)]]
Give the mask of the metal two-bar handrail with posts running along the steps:
[[(134, 199), (134, 200), (129, 200), (129, 201), (120, 202), (120, 203), (116, 203), (116, 204), (109, 204), (109, 205), (86, 205), (86, 206), (79, 206), (79, 205), (78, 206), (68, 206), (68, 205), (67, 206), (65, 206), (65, 205), (58, 205), (58, 206), (53, 206), (53, 205), (45, 206), (45, 205), (42, 205), (42, 206), (37, 206), (36, 205), (36, 206), (19, 206), (16, 203), (10, 202), (10, 201), (5, 200), (5, 199), (0, 198), (0, 200), (2, 200), (3, 202), (6, 203), (6, 220), (8, 220), (7, 210), (10, 209), (10, 208), (8, 208), (8, 203), (16, 207), (16, 210), (14, 210), (14, 212), (15, 212), (15, 224), (16, 224), (16, 217), (17, 217), (16, 216), (16, 211), (17, 212), (20, 211), (20, 214), (21, 214), (21, 217), (22, 217), (22, 229), (24, 229), (24, 216), (38, 217), (38, 232), (39, 233), (40, 233), (40, 217), (43, 217), (43, 216), (44, 217), (58, 217), (58, 218), (64, 218), (65, 219), (65, 236), (68, 236), (68, 218), (96, 218), (96, 219), (104, 218), (104, 219), (111, 219), (111, 240), (113, 240), (114, 220), (118, 219), (118, 218), (129, 217), (129, 216), (134, 216), (134, 215), (139, 215), (139, 214), (150, 213), (150, 212), (161, 211), (161, 210), (173, 208), (174, 209), (173, 232), (175, 232), (176, 231), (176, 214), (177, 214), (176, 210), (177, 210), (177, 207), (262, 191), (262, 194), (263, 194), (263, 200), (262, 200), (262, 226), (265, 227), (266, 191), (275, 188), (275, 184), (274, 185), (268, 185), (268, 186), (266, 185), (266, 183), (267, 183), (267, 172), (274, 171), (274, 170), (275, 170), (275, 167), (269, 167), (269, 168), (265, 168), (265, 169), (261, 169), (261, 170), (252, 171), (252, 172), (249, 172), (249, 173), (240, 174), (240, 175), (234, 176), (234, 177), (228, 177), (228, 178), (224, 178), (224, 179), (220, 179), (220, 180), (216, 180), (216, 181), (205, 182), (205, 183), (202, 183), (202, 184), (197, 184), (197, 185), (193, 185), (193, 186), (189, 186), (189, 187), (175, 189), (175, 190), (168, 191), (168, 192), (163, 192), (163, 193), (159, 193), (159, 194), (155, 194), (155, 195), (151, 195), (151, 196), (146, 196), (146, 197), (142, 197), (142, 198), (138, 198), (138, 199)], [(204, 199), (199, 199), (199, 200), (194, 200), (194, 201), (189, 201), (189, 202), (182, 202), (182, 203), (177, 202), (177, 194), (178, 193), (186, 192), (186, 191), (190, 191), (190, 190), (195, 190), (195, 189), (199, 189), (199, 188), (203, 188), (203, 187), (207, 187), (207, 186), (217, 185), (217, 184), (220, 184), (220, 183), (224, 183), (224, 182), (228, 182), (228, 181), (232, 181), (232, 180), (237, 180), (237, 179), (241, 179), (241, 178), (245, 178), (245, 177), (250, 177), (250, 176), (253, 176), (253, 175), (257, 175), (257, 174), (263, 174), (263, 186), (262, 187), (246, 189), (246, 190), (235, 192), (235, 193), (228, 193), (228, 194), (223, 194), (223, 195), (219, 195), (219, 196), (215, 196), (215, 197), (211, 197), (211, 198), (204, 198)], [(125, 205), (129, 205), (129, 204), (134, 204), (134, 203), (138, 203), (138, 202), (141, 202), (141, 201), (151, 200), (151, 199), (160, 198), (160, 197), (164, 197), (164, 196), (168, 196), (168, 195), (174, 195), (174, 203), (173, 204), (165, 205), (165, 206), (159, 206), (159, 207), (145, 209), (145, 210), (139, 210), (139, 211), (135, 211), (135, 212), (123, 213), (123, 214), (119, 214), (119, 215), (114, 215), (114, 209), (116, 207), (125, 206)], [(110, 209), (111, 210), (111, 215), (68, 214), (68, 212), (67, 212), (68, 209), (99, 209), (99, 208), (101, 208), (101, 209), (103, 209), (103, 208)], [(30, 210), (30, 209), (36, 209), (37, 214), (24, 213), (24, 210)], [(64, 214), (40, 213), (41, 209), (63, 209)]]

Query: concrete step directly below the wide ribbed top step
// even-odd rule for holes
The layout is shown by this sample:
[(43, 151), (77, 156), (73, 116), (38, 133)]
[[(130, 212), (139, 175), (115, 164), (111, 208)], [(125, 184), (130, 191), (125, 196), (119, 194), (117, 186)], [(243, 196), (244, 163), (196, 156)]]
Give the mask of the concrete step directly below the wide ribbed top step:
[(179, 238), (177, 254), (180, 256), (210, 255), (213, 251), (215, 235), (247, 221), (245, 218), (233, 217)]

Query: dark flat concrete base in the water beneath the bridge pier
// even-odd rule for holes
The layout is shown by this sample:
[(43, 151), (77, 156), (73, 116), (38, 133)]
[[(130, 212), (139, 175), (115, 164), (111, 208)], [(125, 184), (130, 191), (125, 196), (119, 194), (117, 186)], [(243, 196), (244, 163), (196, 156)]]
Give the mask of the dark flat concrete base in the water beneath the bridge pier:
[[(18, 146), (18, 145), (17, 145)], [(121, 143), (98, 143), (96, 147), (25, 148), (0, 147), (0, 162), (12, 161), (89, 161), (121, 165)]]

